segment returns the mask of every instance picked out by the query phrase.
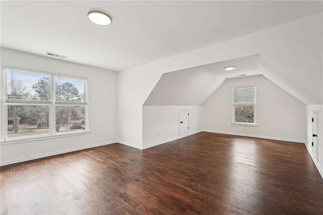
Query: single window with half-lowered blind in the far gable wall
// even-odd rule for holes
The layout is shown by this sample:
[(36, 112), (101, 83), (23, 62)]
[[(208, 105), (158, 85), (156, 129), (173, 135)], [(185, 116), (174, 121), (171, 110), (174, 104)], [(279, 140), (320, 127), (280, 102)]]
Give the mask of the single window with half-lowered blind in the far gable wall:
[(256, 125), (256, 86), (232, 89), (233, 124)]

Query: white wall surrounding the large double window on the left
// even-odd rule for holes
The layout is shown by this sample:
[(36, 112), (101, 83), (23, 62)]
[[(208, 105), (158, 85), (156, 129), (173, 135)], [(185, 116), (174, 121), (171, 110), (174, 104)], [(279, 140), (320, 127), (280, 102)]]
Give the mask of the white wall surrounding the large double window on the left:
[[(23, 160), (64, 153), (82, 148), (116, 142), (117, 140), (117, 73), (80, 64), (69, 63), (29, 53), (1, 48), (1, 65), (24, 69), (47, 71), (89, 79), (90, 133), (32, 140), (6, 144), (4, 142), (3, 123), (1, 133), (1, 165), (21, 162)], [(2, 80), (1, 80), (2, 82)], [(0, 86), (2, 93), (3, 87)], [(1, 101), (3, 103), (3, 101)], [(1, 106), (3, 108), (3, 106)], [(0, 115), (0, 122), (3, 122)], [(97, 133), (97, 137), (94, 137)]]

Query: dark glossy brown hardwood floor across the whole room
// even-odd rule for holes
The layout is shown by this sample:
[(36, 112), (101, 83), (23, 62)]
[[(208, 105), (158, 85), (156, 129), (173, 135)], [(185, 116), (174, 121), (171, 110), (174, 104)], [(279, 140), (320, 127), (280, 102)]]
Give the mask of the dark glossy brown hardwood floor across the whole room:
[(323, 214), (304, 144), (201, 132), (1, 168), (1, 214)]

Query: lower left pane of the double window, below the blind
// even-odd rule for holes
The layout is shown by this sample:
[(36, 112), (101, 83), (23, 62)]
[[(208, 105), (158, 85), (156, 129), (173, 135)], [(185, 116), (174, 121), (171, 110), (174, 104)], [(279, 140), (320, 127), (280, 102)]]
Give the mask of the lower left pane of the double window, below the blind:
[(8, 105), (8, 138), (49, 134), (48, 106)]

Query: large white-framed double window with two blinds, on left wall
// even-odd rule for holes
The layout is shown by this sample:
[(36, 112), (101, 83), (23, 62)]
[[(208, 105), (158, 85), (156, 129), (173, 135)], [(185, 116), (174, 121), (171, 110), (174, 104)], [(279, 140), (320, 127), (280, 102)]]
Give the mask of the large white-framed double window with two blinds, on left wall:
[(87, 131), (87, 79), (5, 67), (5, 140)]

